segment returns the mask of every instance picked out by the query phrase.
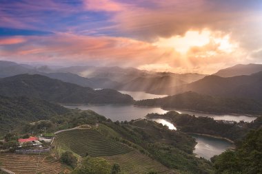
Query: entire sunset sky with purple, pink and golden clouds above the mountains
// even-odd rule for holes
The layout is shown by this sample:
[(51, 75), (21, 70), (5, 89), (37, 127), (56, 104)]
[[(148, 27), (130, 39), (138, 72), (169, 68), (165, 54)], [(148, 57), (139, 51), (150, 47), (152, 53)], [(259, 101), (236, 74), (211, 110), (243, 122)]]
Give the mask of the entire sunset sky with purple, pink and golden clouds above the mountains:
[(261, 0), (0, 0), (0, 60), (212, 74), (262, 63)]

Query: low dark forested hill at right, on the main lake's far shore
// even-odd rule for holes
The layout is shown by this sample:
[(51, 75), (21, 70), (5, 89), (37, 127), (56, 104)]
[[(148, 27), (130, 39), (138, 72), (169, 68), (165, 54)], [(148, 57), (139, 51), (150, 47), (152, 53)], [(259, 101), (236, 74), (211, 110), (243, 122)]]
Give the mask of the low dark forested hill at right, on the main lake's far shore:
[(165, 98), (139, 100), (139, 106), (159, 106), (163, 108), (191, 109), (209, 113), (262, 113), (261, 102), (245, 98), (220, 98), (197, 94), (192, 91)]

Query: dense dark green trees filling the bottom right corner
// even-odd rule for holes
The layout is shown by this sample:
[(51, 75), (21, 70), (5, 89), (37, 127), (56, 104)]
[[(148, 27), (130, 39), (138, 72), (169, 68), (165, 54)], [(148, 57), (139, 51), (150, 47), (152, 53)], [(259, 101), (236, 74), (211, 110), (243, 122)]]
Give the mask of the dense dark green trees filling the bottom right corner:
[(225, 151), (212, 157), (216, 173), (262, 173), (262, 128), (250, 131), (236, 146), (235, 151)]

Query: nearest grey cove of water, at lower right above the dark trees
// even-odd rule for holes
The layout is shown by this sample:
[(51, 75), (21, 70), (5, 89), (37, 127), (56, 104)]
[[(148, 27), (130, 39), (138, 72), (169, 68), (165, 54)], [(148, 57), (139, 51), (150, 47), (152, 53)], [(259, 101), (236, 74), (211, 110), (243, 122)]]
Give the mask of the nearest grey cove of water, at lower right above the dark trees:
[(220, 138), (212, 138), (204, 135), (192, 135), (196, 139), (194, 153), (197, 157), (204, 157), (210, 160), (210, 157), (223, 153), (232, 146), (232, 143)]

